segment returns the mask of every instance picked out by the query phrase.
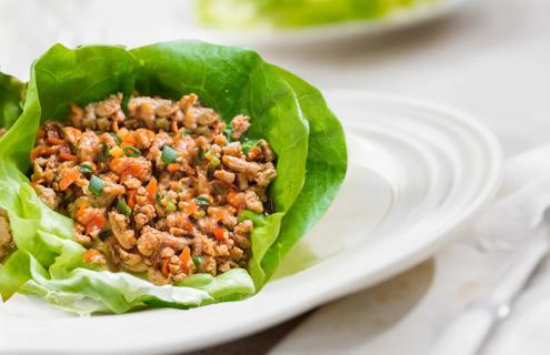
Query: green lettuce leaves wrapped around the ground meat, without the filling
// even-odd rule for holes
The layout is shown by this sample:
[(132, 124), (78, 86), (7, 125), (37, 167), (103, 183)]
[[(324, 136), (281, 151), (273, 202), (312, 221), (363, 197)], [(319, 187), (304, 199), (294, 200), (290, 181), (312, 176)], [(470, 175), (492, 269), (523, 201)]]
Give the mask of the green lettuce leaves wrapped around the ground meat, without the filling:
[[(253, 295), (327, 211), (346, 174), (342, 128), (321, 93), (252, 50), (192, 41), (132, 50), (56, 44), (33, 63), (22, 105), (23, 84), (4, 78), (0, 123), (11, 128), (0, 139), (0, 207), (8, 211), (16, 248), (0, 265), (3, 300), (33, 294), (89, 314), (187, 308)], [(254, 224), (247, 270), (157, 286), (140, 275), (87, 264), (72, 220), (50, 210), (29, 184), (29, 155), (42, 122), (63, 120), (71, 102), (83, 105), (117, 92), (128, 98), (134, 90), (171, 99), (197, 93), (226, 122), (250, 115), (250, 138), (270, 142), (278, 170), (270, 187), (274, 212), (246, 212)]]

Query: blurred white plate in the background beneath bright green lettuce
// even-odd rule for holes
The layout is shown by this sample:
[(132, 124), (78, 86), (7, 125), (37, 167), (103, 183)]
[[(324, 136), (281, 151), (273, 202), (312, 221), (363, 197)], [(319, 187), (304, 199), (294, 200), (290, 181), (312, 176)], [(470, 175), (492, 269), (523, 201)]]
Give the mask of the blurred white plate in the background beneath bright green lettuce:
[(208, 30), (197, 20), (191, 19), (193, 30), (200, 38), (221, 43), (233, 43), (254, 47), (289, 47), (311, 43), (326, 43), (347, 38), (369, 37), (386, 33), (417, 23), (444, 17), (467, 0), (437, 0), (434, 3), (420, 4), (410, 9), (397, 10), (387, 17), (373, 20), (363, 20), (349, 23), (317, 26), (303, 29), (254, 29), (243, 30)]

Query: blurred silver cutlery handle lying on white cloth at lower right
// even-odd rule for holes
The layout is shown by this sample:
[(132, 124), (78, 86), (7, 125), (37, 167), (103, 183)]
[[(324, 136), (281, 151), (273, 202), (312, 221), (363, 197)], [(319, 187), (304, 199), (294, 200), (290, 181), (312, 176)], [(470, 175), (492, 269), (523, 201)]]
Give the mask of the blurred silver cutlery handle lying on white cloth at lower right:
[[(550, 222), (550, 209), (544, 210), (543, 223)], [(550, 253), (547, 231), (526, 240), (517, 261), (507, 270), (494, 290), (470, 305), (443, 332), (432, 348), (432, 355), (479, 355), (504, 321)]]

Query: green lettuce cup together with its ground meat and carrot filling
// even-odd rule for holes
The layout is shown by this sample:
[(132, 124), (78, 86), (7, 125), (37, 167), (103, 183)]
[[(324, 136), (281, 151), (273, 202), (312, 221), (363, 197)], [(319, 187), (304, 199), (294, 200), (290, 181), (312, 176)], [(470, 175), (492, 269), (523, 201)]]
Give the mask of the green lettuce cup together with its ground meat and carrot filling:
[(242, 300), (346, 174), (320, 92), (248, 49), (57, 44), (30, 78), (0, 77), (4, 301), (89, 314)]

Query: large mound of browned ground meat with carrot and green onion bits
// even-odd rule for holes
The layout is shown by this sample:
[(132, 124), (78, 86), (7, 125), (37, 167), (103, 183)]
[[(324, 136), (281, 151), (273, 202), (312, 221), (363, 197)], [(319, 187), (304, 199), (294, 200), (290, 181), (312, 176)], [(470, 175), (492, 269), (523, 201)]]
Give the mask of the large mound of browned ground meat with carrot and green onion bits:
[(228, 128), (197, 95), (122, 95), (47, 122), (31, 152), (42, 201), (76, 221), (84, 261), (146, 273), (154, 284), (217, 275), (250, 257), (252, 221), (268, 213), (274, 154), (248, 140), (249, 118)]

